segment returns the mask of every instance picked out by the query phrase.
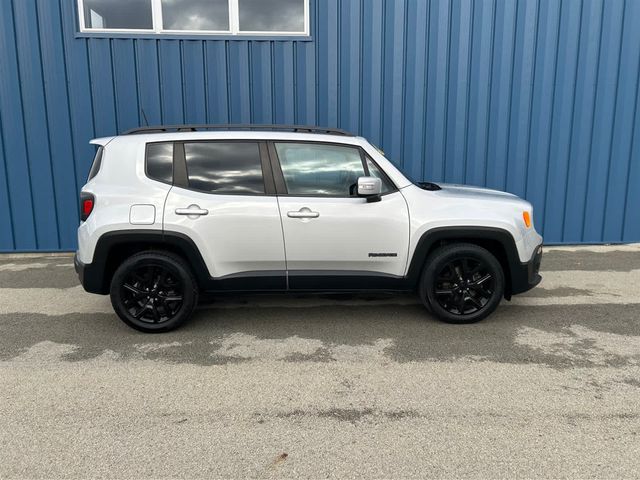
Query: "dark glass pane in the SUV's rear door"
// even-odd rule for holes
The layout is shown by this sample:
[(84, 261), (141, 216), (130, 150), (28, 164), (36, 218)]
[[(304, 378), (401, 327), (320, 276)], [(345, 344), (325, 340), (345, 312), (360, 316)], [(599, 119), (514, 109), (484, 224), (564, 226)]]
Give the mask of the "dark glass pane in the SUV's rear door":
[(208, 193), (265, 193), (257, 142), (185, 143), (184, 155), (189, 188)]

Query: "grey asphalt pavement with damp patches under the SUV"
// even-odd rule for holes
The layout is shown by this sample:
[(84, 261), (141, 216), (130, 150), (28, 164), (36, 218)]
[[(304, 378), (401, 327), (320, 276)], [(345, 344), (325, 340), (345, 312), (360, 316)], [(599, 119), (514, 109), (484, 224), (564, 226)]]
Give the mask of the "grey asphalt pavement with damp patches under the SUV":
[(0, 256), (0, 478), (638, 478), (640, 246), (542, 274), (474, 325), (250, 296), (148, 335), (70, 256)]

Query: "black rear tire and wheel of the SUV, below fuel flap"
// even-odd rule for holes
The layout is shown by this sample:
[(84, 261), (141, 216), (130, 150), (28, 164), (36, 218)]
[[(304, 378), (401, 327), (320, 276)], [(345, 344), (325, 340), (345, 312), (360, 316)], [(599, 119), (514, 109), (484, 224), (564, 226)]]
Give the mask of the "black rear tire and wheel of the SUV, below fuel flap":
[(160, 333), (186, 322), (198, 304), (198, 285), (178, 255), (147, 251), (127, 258), (111, 280), (111, 304), (136, 330)]

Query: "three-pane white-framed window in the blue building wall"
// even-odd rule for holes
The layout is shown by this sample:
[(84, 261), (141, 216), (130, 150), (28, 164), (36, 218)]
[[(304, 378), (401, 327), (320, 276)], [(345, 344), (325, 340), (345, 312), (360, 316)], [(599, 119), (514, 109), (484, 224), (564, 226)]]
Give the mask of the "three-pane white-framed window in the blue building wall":
[(310, 0), (78, 0), (86, 33), (309, 35)]

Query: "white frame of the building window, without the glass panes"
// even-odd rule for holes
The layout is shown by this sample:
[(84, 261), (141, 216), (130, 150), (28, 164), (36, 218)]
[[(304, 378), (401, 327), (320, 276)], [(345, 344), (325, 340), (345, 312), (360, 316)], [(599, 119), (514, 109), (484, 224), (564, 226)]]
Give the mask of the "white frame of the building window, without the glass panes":
[(233, 35), (233, 36), (287, 36), (299, 37), (309, 36), (309, 2), (304, 3), (304, 31), (302, 32), (281, 32), (281, 31), (240, 31), (240, 11), (239, 0), (227, 0), (229, 2), (229, 30), (165, 30), (162, 25), (162, 0), (151, 1), (151, 16), (153, 28), (89, 28), (84, 22), (84, 0), (78, 2), (78, 21), (81, 33), (128, 33), (128, 34), (152, 34), (152, 35)]

